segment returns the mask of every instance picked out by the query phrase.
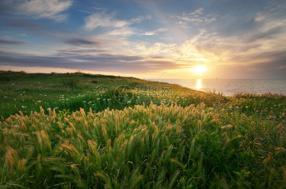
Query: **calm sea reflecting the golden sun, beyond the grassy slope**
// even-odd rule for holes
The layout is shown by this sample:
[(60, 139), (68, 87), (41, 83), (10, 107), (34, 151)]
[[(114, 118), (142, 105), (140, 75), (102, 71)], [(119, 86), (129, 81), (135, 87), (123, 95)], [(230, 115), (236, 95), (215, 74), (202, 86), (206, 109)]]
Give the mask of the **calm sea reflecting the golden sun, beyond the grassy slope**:
[(254, 94), (276, 93), (286, 95), (286, 79), (148, 79), (167, 83), (176, 83), (195, 90), (215, 90), (225, 96), (237, 92)]

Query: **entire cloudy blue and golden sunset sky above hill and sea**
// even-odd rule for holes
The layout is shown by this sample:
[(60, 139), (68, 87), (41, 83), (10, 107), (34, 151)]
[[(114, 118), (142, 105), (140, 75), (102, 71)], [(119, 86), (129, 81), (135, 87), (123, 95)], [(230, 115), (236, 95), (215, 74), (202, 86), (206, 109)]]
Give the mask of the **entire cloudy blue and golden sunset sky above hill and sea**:
[(0, 1), (0, 70), (284, 79), (285, 44), (286, 1)]

